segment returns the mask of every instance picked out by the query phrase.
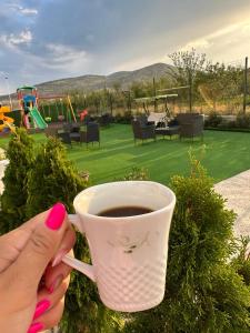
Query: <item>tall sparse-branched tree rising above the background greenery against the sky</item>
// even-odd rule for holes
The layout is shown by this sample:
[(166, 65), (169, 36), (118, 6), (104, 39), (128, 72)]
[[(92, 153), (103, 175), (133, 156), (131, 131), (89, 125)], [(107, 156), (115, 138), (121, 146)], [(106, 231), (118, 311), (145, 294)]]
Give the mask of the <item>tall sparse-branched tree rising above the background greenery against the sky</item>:
[(191, 49), (191, 51), (173, 52), (169, 54), (169, 58), (177, 68), (177, 82), (189, 85), (189, 111), (192, 112), (193, 84), (196, 82), (197, 73), (204, 69), (206, 54), (198, 54), (194, 49)]

